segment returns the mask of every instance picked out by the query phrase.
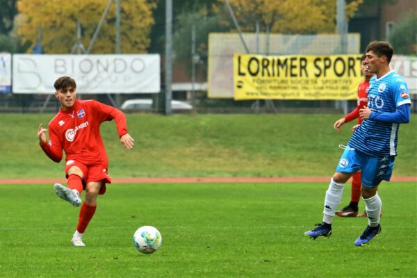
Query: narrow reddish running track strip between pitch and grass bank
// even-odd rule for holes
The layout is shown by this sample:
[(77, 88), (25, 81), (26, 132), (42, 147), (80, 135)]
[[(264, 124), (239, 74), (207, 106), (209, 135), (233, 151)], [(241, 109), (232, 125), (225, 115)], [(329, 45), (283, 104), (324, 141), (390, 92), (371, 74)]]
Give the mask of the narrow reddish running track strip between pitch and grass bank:
[[(126, 178), (112, 179), (112, 183), (291, 183), (328, 182), (330, 177), (277, 177), (277, 178)], [(417, 181), (417, 177), (392, 177), (391, 181)], [(0, 184), (67, 183), (66, 179), (0, 179)]]

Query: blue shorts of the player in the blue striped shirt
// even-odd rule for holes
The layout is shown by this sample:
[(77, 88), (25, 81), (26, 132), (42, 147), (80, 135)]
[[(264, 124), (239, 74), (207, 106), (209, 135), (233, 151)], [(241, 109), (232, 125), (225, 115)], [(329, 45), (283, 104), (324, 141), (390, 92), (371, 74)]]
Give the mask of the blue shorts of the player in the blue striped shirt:
[(362, 171), (362, 185), (367, 188), (378, 186), (382, 180), (389, 181), (393, 173), (395, 156), (374, 157), (346, 146), (336, 172), (355, 173)]

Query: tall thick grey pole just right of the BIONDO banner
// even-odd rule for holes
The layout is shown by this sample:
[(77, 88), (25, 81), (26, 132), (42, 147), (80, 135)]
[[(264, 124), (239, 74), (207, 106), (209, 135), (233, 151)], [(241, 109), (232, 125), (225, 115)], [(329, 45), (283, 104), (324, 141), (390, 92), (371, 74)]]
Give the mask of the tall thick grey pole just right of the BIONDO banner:
[(165, 0), (165, 114), (172, 114), (172, 0)]

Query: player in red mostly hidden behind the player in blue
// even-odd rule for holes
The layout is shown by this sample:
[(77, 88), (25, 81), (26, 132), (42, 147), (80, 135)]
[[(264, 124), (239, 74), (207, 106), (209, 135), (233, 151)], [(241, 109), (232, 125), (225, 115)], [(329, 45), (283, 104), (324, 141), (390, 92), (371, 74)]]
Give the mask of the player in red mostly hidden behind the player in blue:
[[(365, 63), (366, 55), (363, 54), (361, 58), (361, 72), (363, 76), (365, 76), (365, 81), (359, 84), (358, 87), (358, 99), (357, 99), (357, 107), (354, 108), (352, 112), (345, 115), (341, 119), (337, 120), (334, 123), (334, 129), (336, 131), (341, 131), (341, 126), (343, 124), (350, 122), (354, 119), (358, 119), (358, 124), (362, 123), (361, 117), (359, 117), (359, 109), (363, 108), (363, 106), (368, 105), (368, 89), (369, 89), (369, 80), (373, 76), (368, 70), (368, 67)], [(352, 194), (350, 196), (350, 203), (345, 206), (341, 211), (336, 211), (336, 215), (341, 217), (355, 217), (358, 215), (359, 211), (359, 199), (361, 198), (361, 172), (356, 172), (352, 176)], [(360, 215), (360, 216), (365, 216)]]

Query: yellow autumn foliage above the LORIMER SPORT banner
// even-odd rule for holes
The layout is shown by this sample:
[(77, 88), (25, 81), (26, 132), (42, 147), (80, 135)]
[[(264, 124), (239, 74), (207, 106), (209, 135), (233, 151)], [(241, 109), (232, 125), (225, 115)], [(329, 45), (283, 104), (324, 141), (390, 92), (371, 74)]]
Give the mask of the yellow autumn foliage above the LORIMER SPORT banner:
[[(346, 19), (353, 17), (363, 0), (346, 1)], [(254, 31), (256, 22), (274, 33), (334, 33), (336, 0), (229, 0), (243, 31)], [(218, 0), (222, 9), (224, 0)]]

